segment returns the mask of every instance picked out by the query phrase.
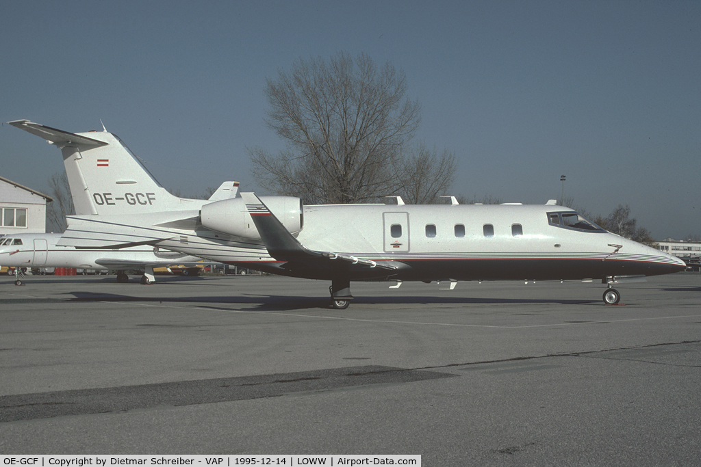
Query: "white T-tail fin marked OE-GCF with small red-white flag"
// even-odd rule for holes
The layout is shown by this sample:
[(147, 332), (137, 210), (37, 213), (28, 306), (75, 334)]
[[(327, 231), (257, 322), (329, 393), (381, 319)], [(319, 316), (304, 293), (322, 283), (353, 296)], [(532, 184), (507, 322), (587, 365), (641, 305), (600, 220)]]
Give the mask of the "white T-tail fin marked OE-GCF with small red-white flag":
[(190, 200), (168, 193), (115, 134), (69, 133), (29, 120), (8, 124), (60, 148), (79, 216), (189, 209)]

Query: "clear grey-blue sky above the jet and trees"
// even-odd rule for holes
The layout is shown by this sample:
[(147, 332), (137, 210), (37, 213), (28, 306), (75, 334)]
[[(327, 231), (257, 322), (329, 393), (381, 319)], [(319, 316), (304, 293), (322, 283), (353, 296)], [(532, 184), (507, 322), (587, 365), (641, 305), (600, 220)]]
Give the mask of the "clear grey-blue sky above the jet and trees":
[[(255, 190), (266, 78), (298, 57), (402, 69), (417, 142), (452, 194), (591, 214), (629, 204), (658, 239), (701, 235), (700, 1), (0, 0), (0, 120), (118, 134), (182, 195)], [(46, 190), (60, 152), (0, 127), (0, 175)], [(262, 193), (264, 194), (264, 193)]]

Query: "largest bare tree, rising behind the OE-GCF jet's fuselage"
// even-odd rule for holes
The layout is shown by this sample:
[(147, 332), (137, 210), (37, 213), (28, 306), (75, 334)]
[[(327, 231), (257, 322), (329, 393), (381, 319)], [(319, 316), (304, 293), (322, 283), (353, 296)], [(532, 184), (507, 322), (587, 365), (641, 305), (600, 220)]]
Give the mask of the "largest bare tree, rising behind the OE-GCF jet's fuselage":
[(403, 153), (421, 107), (406, 90), (401, 71), (365, 54), (300, 58), (290, 73), (279, 71), (267, 81), (265, 122), (287, 148), (249, 150), (258, 183), (307, 203), (367, 202), (407, 188)]

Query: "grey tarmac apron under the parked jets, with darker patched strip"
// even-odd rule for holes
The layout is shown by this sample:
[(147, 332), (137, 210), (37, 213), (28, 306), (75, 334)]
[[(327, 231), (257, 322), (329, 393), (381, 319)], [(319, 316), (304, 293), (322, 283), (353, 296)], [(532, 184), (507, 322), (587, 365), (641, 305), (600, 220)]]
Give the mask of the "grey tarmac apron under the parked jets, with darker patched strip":
[(701, 465), (701, 274), (329, 283), (0, 278), (0, 454)]

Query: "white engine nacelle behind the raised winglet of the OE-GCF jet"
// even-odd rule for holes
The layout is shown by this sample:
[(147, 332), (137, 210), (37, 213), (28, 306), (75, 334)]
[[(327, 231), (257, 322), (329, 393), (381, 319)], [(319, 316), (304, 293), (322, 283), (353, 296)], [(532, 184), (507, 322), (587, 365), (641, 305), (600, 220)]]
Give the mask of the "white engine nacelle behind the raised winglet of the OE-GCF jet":
[[(297, 237), (304, 226), (302, 200), (292, 196), (261, 196), (260, 199), (285, 228)], [(257, 240), (261, 238), (242, 198), (205, 204), (200, 211), (200, 222), (205, 228), (228, 235)]]

